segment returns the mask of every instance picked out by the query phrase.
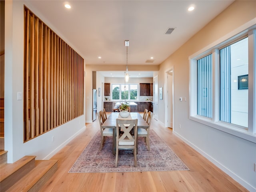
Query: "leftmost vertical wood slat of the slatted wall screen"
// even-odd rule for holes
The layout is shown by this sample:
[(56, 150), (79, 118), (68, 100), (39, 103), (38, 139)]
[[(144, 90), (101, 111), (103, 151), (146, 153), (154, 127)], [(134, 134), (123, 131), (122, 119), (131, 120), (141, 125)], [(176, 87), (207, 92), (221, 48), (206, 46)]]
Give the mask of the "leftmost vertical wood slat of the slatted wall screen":
[(29, 140), (29, 125), (28, 125), (28, 66), (29, 66), (29, 10), (24, 11), (25, 14), (25, 40), (24, 40), (24, 140)]

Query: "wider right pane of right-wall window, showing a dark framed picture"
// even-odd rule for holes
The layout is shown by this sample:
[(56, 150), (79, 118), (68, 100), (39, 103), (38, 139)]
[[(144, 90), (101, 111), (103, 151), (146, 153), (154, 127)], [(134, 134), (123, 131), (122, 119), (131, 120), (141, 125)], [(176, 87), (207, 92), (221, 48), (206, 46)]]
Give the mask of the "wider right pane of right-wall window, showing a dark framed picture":
[(248, 38), (220, 50), (220, 120), (248, 127)]

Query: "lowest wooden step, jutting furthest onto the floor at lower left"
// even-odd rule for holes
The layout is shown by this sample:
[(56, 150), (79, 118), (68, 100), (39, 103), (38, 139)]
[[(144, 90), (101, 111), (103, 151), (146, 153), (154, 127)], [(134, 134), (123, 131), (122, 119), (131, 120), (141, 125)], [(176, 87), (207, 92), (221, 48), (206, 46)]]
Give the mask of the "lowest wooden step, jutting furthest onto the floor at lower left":
[(7, 192), (38, 192), (58, 169), (58, 160), (36, 160), (36, 167)]

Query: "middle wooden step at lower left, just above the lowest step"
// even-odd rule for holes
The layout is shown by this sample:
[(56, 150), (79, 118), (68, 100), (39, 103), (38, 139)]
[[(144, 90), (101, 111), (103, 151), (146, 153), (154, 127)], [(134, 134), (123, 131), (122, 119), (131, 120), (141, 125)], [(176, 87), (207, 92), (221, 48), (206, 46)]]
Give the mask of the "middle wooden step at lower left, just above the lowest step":
[(36, 156), (24, 156), (20, 160), (0, 167), (1, 192), (8, 190), (35, 167)]

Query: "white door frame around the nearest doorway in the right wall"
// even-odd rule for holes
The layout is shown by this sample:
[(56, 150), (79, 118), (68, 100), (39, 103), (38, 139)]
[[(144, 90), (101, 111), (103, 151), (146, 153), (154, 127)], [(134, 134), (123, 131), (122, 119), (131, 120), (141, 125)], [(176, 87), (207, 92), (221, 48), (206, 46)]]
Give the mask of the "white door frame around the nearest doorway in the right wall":
[[(168, 101), (168, 73), (172, 71), (172, 100)], [(165, 70), (164, 73), (164, 96), (165, 96), (165, 118), (164, 125), (168, 126), (168, 103), (172, 102), (172, 130), (174, 130), (174, 66)]]

